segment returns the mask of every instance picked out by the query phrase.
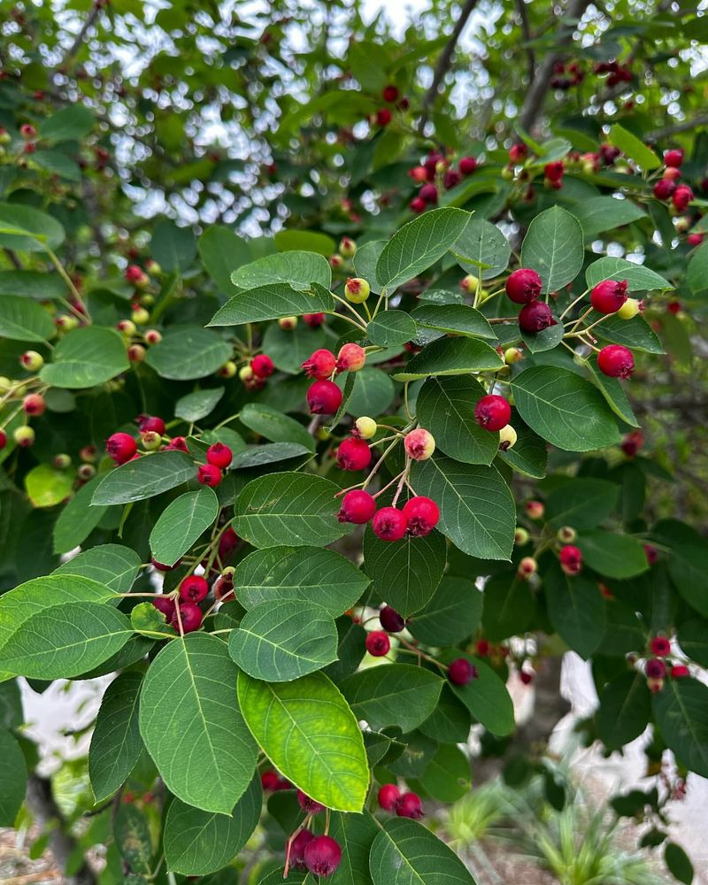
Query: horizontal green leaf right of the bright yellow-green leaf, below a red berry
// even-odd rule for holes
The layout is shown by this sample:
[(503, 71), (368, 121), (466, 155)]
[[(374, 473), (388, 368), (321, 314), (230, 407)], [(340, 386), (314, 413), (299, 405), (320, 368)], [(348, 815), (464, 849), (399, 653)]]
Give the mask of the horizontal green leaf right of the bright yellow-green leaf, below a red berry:
[(375, 731), (396, 726), (404, 734), (419, 727), (435, 710), (443, 680), (412, 664), (381, 664), (353, 673), (342, 694), (359, 720)]

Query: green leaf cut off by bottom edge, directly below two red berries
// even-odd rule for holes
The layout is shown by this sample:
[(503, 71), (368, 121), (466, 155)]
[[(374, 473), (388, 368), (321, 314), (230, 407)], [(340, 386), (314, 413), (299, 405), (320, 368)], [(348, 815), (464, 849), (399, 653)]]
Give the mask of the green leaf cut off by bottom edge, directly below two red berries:
[(417, 820), (387, 820), (373, 840), (373, 885), (475, 885), (453, 850)]

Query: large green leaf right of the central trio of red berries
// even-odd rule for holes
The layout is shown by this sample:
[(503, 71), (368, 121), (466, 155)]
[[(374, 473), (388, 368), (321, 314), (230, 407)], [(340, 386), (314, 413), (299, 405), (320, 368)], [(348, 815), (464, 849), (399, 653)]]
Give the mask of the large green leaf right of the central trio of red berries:
[(481, 559), (510, 558), (516, 508), (495, 467), (430, 458), (413, 465), (412, 484), (440, 507), (438, 530), (459, 550)]

